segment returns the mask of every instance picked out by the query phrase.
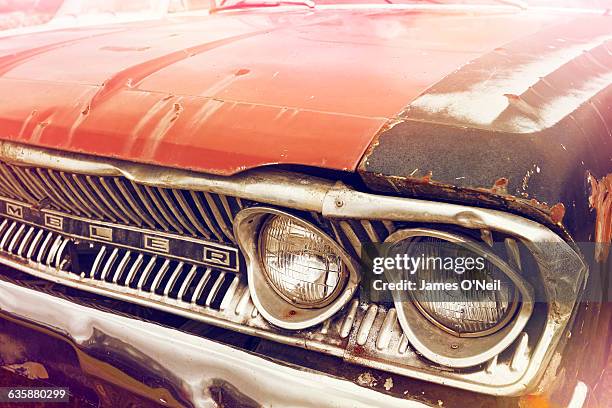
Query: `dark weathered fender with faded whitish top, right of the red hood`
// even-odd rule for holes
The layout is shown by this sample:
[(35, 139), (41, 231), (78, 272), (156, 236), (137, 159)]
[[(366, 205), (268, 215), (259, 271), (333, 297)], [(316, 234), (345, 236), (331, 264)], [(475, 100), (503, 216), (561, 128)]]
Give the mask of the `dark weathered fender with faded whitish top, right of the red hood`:
[(370, 187), (563, 224), (590, 241), (590, 174), (612, 171), (612, 19), (579, 18), (474, 59), (379, 133)]

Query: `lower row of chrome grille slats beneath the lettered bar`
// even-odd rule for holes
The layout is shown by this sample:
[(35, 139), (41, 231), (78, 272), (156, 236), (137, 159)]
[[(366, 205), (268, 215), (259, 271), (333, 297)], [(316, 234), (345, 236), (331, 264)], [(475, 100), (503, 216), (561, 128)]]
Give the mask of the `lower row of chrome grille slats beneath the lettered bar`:
[(78, 243), (62, 234), (0, 218), (0, 253), (65, 272), (92, 284), (107, 283), (139, 296), (153, 294), (188, 305), (219, 309), (234, 273), (160, 255), (94, 243)]

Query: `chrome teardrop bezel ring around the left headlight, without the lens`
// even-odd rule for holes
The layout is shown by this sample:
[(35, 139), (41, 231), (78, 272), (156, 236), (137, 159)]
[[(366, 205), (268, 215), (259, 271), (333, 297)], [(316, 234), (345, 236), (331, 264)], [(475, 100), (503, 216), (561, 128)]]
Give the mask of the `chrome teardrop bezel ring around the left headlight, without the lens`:
[[(346, 276), (339, 284), (342, 287), (338, 288), (334, 294), (335, 298), (314, 307), (300, 307), (278, 293), (269, 282), (261, 258), (260, 232), (271, 216), (288, 217), (306, 225), (319, 234), (340, 256), (346, 265)], [(275, 326), (300, 330), (319, 324), (338, 312), (353, 297), (358, 288), (360, 274), (355, 260), (320, 228), (293, 214), (271, 207), (246, 208), (236, 215), (234, 235), (246, 258), (251, 299), (259, 313)]]

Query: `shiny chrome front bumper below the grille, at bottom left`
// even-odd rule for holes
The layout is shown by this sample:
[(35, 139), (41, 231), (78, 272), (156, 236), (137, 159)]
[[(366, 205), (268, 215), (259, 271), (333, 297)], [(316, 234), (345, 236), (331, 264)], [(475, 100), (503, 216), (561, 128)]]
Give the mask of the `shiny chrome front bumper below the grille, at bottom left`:
[[(95, 384), (102, 396), (108, 396), (102, 386), (108, 384), (166, 406), (218, 406), (213, 393), (220, 388), (241, 406), (427, 406), (0, 280), (2, 327), (38, 333), (23, 338), (0, 330), (0, 358), (26, 356), (43, 364), (59, 359), (62, 365), (72, 360), (74, 367), (63, 371), (72, 370), (75, 382)], [(11, 336), (18, 343), (12, 343)], [(46, 344), (33, 344), (37, 338)], [(64, 351), (52, 343), (63, 343)], [(2, 363), (17, 362), (24, 363)]]

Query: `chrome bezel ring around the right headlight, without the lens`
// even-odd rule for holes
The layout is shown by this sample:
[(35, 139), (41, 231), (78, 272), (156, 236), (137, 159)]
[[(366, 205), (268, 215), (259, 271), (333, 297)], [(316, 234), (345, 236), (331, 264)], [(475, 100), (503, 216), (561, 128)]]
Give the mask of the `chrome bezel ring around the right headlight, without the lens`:
[(503, 322), (502, 327), (483, 336), (457, 336), (440, 327), (428, 317), (416, 301), (396, 300), (397, 316), (410, 344), (427, 359), (453, 368), (472, 367), (485, 363), (506, 349), (521, 334), (531, 317), (534, 306), (534, 291), (531, 285), (507, 262), (493, 252), (486, 251), (477, 242), (457, 234), (414, 228), (396, 231), (385, 240), (394, 244), (417, 237), (439, 238), (450, 243), (469, 247), (475, 253), (486, 253), (487, 261), (493, 263), (512, 281), (520, 294), (516, 312)]

